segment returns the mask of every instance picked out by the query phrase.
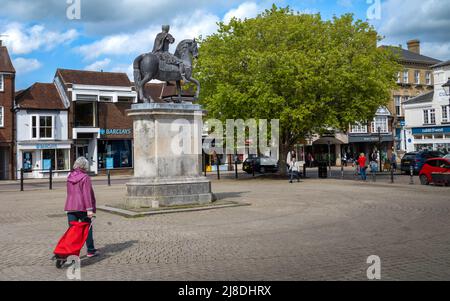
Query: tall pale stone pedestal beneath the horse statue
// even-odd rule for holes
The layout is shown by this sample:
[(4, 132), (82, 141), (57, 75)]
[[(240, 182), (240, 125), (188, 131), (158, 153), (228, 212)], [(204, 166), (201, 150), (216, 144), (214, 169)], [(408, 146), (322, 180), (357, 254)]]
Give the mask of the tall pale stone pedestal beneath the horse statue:
[(136, 104), (134, 178), (126, 207), (205, 204), (213, 201), (211, 182), (202, 176), (202, 118), (193, 104)]

